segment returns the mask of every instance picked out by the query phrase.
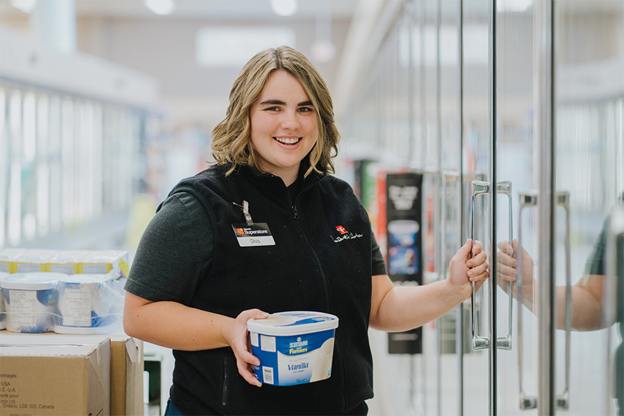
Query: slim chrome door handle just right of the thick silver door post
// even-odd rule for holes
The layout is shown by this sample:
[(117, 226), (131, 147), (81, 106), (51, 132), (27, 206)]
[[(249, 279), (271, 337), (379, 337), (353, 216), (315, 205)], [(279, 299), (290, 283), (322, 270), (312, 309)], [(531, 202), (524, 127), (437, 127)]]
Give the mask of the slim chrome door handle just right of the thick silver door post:
[(572, 272), (570, 270), (570, 193), (557, 192), (557, 205), (566, 210), (566, 381), (564, 392), (557, 395), (557, 408), (567, 409), (570, 392), (570, 333), (572, 331)]

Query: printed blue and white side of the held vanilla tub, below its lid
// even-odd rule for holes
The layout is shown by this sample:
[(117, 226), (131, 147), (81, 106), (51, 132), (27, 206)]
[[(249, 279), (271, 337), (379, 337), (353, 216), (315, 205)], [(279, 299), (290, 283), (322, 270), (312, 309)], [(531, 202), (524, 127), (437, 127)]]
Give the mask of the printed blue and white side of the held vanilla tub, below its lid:
[(294, 336), (250, 332), (252, 352), (260, 360), (254, 372), (261, 383), (295, 385), (331, 376), (334, 329)]

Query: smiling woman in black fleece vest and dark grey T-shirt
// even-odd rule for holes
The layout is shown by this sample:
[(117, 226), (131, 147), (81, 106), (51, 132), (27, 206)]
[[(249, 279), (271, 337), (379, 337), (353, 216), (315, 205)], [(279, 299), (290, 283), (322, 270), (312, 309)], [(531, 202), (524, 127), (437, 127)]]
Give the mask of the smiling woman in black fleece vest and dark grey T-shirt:
[[(126, 285), (125, 331), (174, 349), (168, 414), (366, 414), (368, 328), (418, 327), (488, 277), (467, 241), (447, 280), (395, 288), (365, 210), (329, 175), (338, 138), (329, 91), (301, 53), (268, 49), (243, 67), (213, 131), (216, 166), (162, 203)], [(331, 377), (259, 388), (247, 321), (302, 310), (340, 320)]]

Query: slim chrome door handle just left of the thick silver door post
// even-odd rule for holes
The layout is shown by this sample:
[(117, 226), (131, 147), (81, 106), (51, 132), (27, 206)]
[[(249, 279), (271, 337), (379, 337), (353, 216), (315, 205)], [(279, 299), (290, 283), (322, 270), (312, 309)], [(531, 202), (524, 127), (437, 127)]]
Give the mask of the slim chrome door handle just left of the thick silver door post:
[(528, 410), (537, 408), (537, 396), (527, 395), (523, 388), (523, 366), (522, 366), (522, 210), (532, 208), (537, 205), (537, 193), (521, 192), (520, 193), (520, 211), (518, 213), (518, 277), (516, 279), (518, 293), (518, 378), (520, 390), (520, 410)]

